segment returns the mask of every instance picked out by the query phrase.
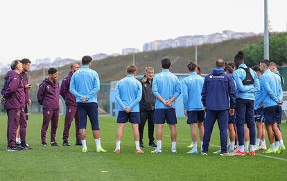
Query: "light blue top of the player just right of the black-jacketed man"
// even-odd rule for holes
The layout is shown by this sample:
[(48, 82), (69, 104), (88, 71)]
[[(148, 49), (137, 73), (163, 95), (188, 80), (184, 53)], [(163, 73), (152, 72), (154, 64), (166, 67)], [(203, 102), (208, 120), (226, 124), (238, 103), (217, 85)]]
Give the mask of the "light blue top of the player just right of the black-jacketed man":
[(155, 108), (175, 108), (175, 101), (172, 107), (168, 107), (159, 101), (158, 97), (161, 95), (164, 100), (169, 100), (171, 97), (177, 98), (180, 93), (180, 80), (168, 69), (163, 69), (161, 73), (153, 77), (153, 95), (157, 98)]

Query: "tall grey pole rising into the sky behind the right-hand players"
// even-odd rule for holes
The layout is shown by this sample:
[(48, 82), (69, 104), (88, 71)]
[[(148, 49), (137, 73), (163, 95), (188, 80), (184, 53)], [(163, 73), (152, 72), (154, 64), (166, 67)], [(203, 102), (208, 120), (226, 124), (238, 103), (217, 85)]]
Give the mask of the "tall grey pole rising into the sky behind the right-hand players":
[(264, 59), (269, 59), (268, 0), (264, 0)]

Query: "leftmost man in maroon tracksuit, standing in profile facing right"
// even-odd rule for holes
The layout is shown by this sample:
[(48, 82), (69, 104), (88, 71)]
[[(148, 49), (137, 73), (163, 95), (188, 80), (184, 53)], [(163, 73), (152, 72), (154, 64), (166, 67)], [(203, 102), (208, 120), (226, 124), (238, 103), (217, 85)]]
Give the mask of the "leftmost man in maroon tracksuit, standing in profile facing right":
[(20, 60), (12, 61), (5, 77), (5, 82), (1, 94), (3, 96), (4, 108), (8, 115), (7, 125), (7, 151), (22, 151), (16, 146), (16, 131), (19, 126), (20, 117), (25, 116), (25, 92), (21, 72), (23, 66)]

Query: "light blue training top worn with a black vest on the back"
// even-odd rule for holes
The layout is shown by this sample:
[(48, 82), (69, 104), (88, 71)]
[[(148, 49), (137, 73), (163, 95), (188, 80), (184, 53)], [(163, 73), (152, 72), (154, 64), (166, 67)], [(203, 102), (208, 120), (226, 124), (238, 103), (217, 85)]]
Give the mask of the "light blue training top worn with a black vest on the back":
[(254, 100), (255, 99), (254, 93), (256, 91), (260, 90), (258, 76), (254, 70), (249, 68), (250, 74), (254, 80), (254, 83), (251, 85), (245, 85), (244, 86), (242, 81), (246, 77), (246, 72), (245, 72), (245, 70), (243, 70), (243, 68), (240, 68), (240, 67), (247, 68), (247, 66), (245, 64), (239, 65), (238, 68), (235, 70), (235, 72), (232, 74), (232, 77), (234, 78), (234, 80), (236, 82), (236, 86), (237, 86), (236, 98)]

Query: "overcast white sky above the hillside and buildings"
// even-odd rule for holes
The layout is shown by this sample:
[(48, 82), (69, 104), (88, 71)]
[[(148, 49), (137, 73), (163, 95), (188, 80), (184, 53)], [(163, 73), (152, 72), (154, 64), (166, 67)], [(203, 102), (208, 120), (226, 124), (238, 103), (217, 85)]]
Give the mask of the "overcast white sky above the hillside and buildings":
[[(269, 0), (273, 31), (287, 1)], [(263, 32), (264, 0), (0, 0), (0, 61), (142, 50), (144, 43), (223, 30)]]

